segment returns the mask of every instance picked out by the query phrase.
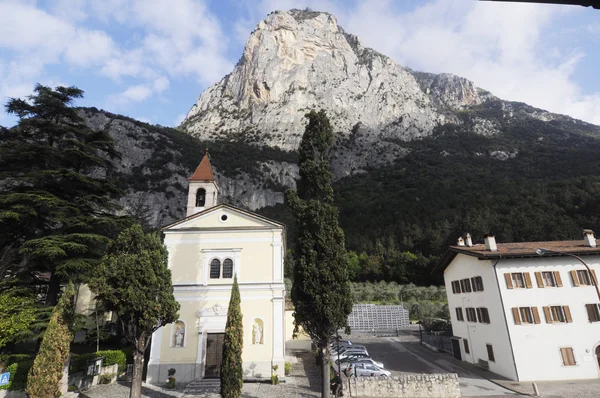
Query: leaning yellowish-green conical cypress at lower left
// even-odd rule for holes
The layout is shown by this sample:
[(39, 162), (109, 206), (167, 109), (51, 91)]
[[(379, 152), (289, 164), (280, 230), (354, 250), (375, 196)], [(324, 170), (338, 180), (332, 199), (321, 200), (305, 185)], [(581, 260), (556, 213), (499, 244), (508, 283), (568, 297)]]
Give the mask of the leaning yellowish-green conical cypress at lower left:
[(48, 329), (27, 379), (27, 393), (32, 397), (57, 397), (60, 380), (73, 339), (75, 288), (69, 283), (54, 307)]

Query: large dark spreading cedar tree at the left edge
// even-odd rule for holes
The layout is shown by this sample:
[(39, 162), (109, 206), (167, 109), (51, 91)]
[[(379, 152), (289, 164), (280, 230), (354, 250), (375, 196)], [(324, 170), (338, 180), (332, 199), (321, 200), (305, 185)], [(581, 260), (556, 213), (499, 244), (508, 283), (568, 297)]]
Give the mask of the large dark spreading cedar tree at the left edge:
[(82, 96), (37, 85), (28, 100), (8, 101), (18, 124), (0, 129), (0, 257), (10, 254), (6, 267), (27, 282), (48, 275), (50, 305), (61, 282), (86, 280), (122, 228), (113, 215), (119, 191), (106, 179), (118, 153), (72, 106)]

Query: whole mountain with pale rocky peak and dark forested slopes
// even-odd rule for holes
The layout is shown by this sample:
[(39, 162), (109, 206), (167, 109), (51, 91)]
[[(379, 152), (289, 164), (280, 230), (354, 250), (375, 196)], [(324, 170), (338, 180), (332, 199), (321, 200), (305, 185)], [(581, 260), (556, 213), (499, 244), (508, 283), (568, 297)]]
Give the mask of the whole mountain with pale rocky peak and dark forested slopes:
[(325, 109), (336, 132), (340, 224), (348, 248), (369, 256), (357, 278), (427, 282), (464, 232), (507, 242), (600, 228), (600, 127), (399, 66), (328, 13), (269, 14), (177, 129), (82, 112), (123, 153), (124, 211), (154, 225), (183, 216), (186, 179), (208, 147), (222, 200), (284, 220), (293, 234), (281, 203), (310, 109)]

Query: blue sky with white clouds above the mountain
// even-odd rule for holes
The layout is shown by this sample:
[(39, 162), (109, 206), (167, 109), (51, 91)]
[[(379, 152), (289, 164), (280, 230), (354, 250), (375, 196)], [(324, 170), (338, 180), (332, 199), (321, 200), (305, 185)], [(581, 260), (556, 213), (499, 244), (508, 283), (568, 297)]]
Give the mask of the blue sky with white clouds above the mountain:
[(0, 0), (0, 99), (75, 85), (79, 105), (175, 126), (261, 19), (306, 7), (401, 65), (600, 124), (600, 11), (469, 0)]

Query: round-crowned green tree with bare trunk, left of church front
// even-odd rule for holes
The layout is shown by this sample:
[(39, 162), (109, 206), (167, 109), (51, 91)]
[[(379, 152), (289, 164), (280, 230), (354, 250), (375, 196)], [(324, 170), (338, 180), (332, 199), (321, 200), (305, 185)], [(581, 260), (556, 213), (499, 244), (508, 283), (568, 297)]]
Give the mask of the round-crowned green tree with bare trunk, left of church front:
[(114, 311), (134, 346), (131, 398), (140, 398), (144, 352), (158, 328), (177, 320), (167, 248), (157, 233), (133, 225), (108, 246), (90, 288)]

